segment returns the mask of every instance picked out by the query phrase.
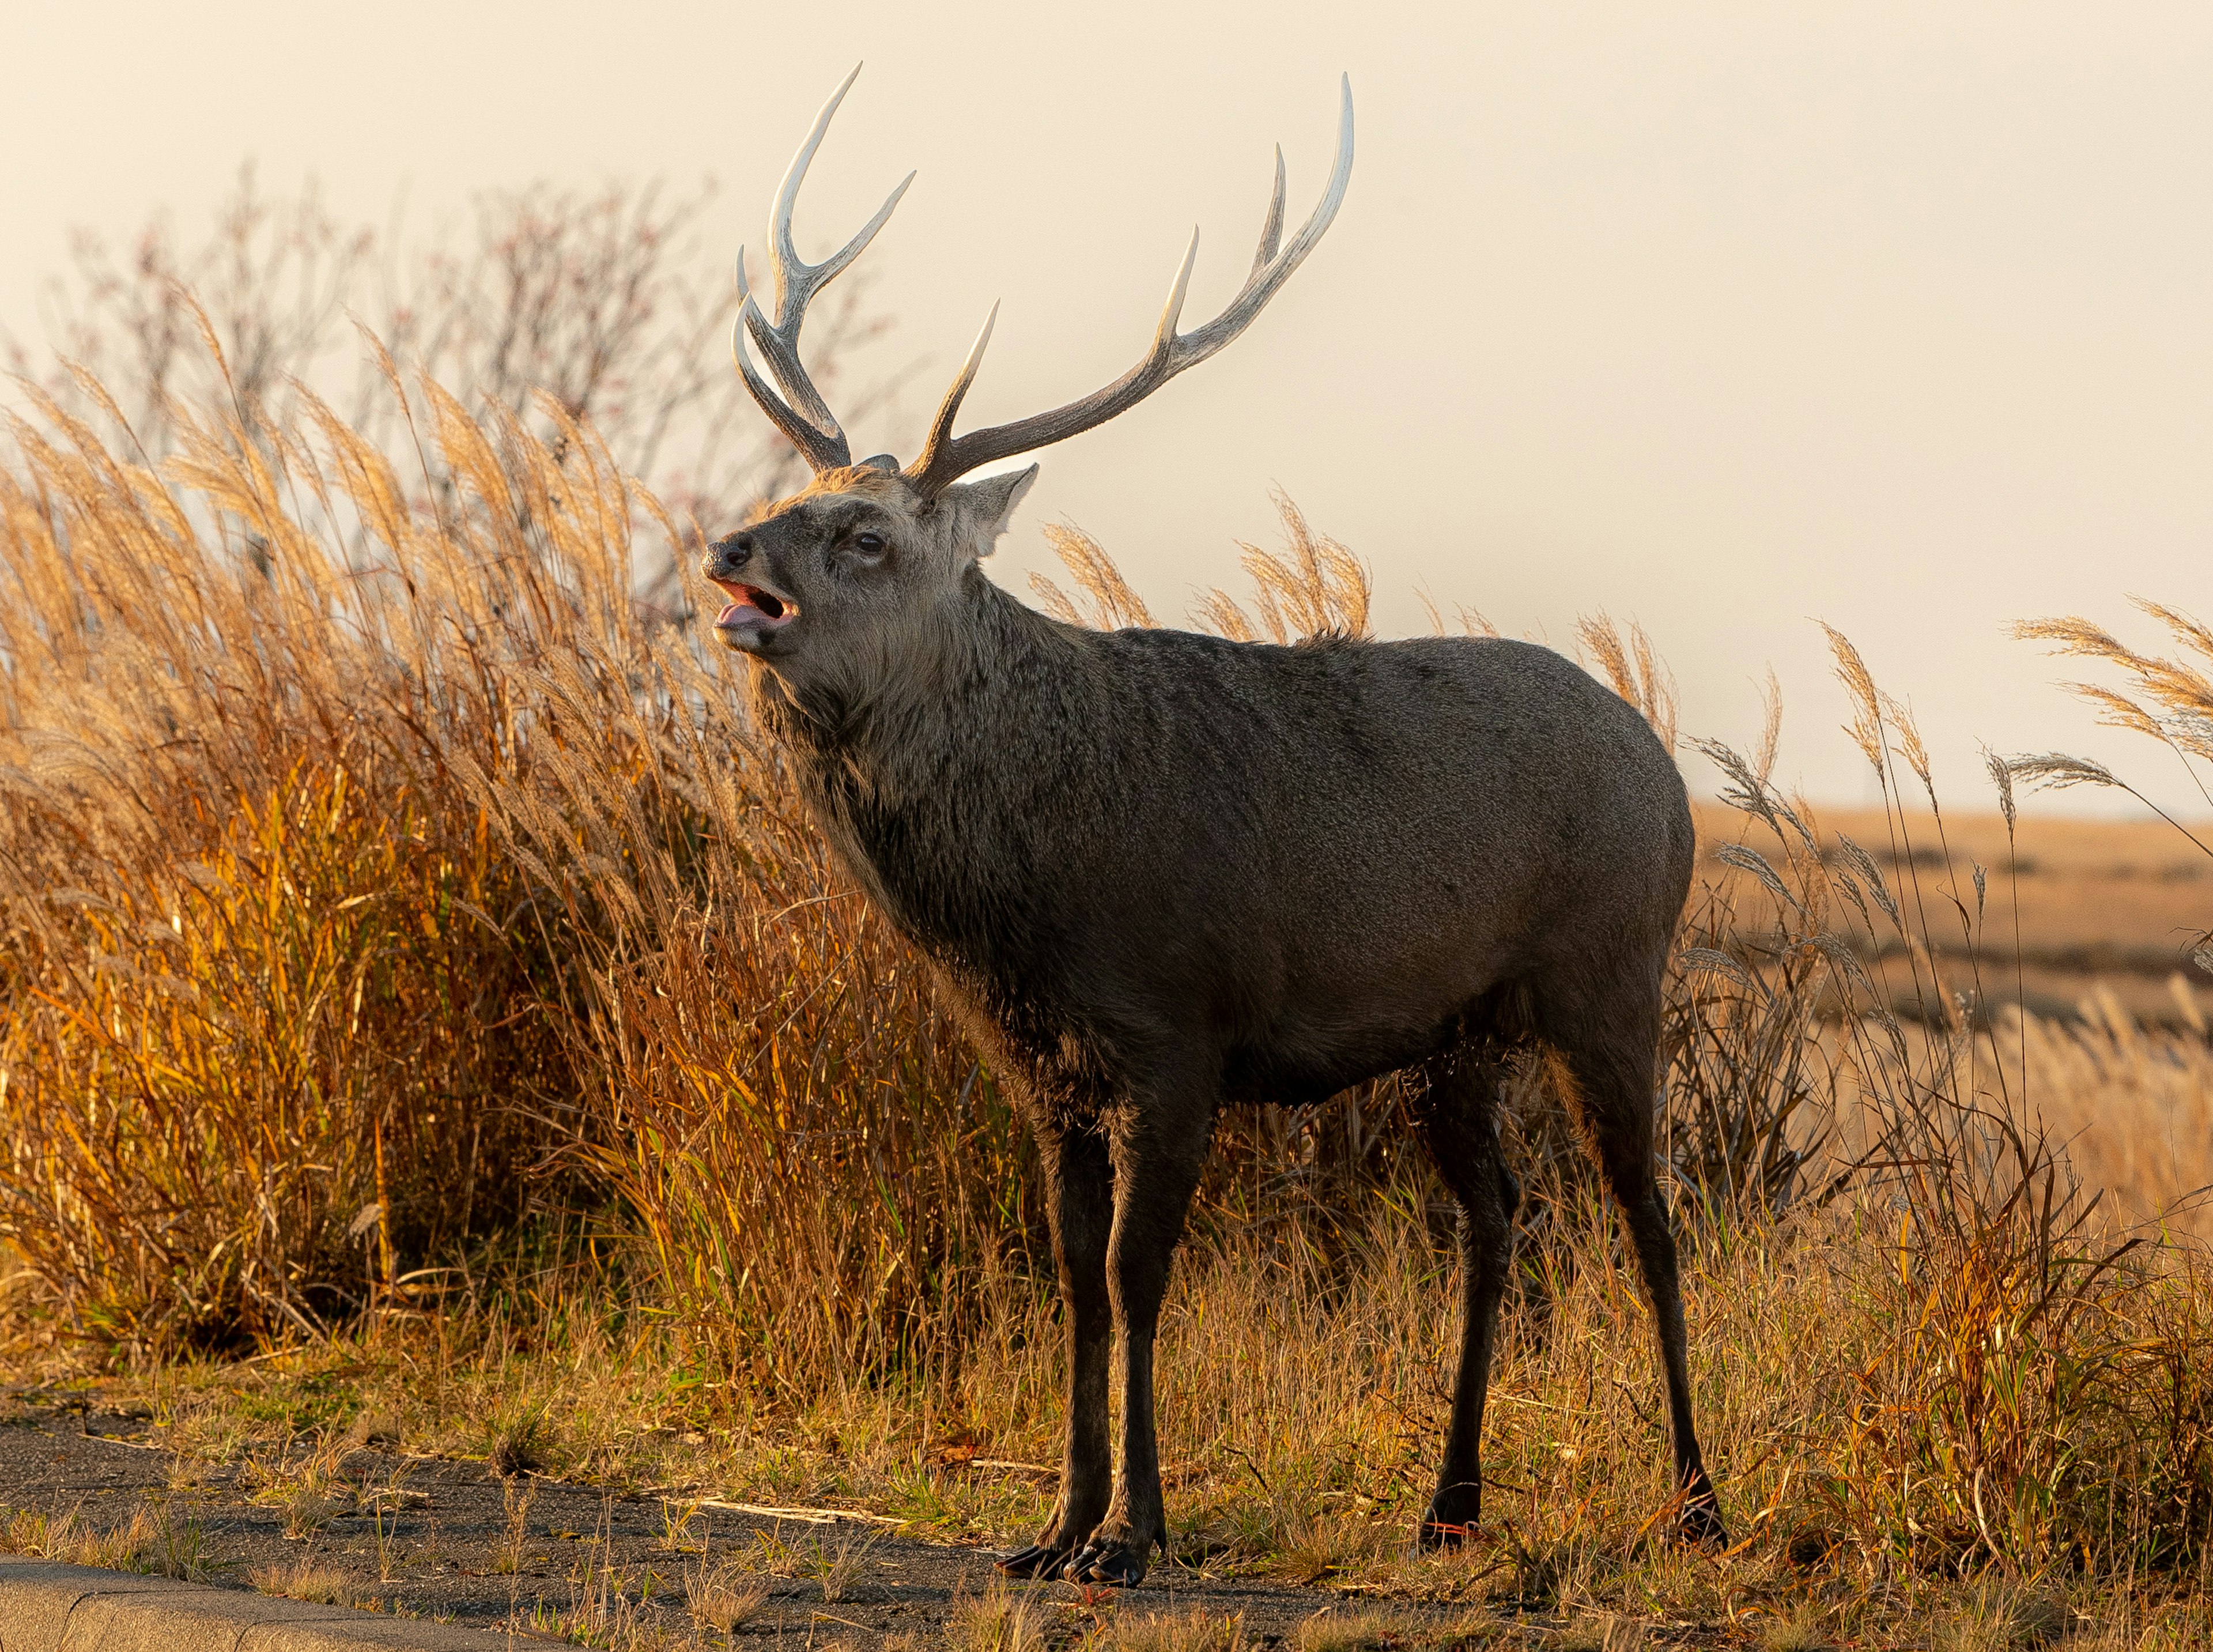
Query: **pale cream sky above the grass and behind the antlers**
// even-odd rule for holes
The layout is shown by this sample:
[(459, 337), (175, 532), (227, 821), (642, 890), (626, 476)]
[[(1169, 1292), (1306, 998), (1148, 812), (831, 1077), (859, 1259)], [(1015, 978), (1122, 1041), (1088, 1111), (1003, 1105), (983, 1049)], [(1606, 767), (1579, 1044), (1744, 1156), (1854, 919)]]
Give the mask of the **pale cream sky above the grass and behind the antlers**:
[[(1241, 589), (1281, 485), (1374, 569), (1567, 642), (1651, 631), (1684, 726), (1748, 740), (1768, 662), (1781, 775), (1866, 802), (1812, 618), (1910, 700), (1956, 808), (1976, 742), (2100, 755), (2012, 642), (2147, 593), (2213, 616), (2213, 9), (2204, 4), (55, 7), (0, 0), (0, 321), (38, 337), (66, 226), (197, 226), (254, 157), (341, 217), (458, 217), (485, 186), (713, 173), (759, 244), (786, 159), (865, 60), (799, 208), (870, 250), (887, 361), (929, 368), (854, 452), (912, 456), (985, 308), (969, 423), (1104, 383), (1202, 226), (1188, 319), (1266, 206), (1319, 195), (1350, 71), (1359, 162), (1268, 314), (1118, 423), (1047, 450), (994, 571), (1071, 520), (1162, 616)], [(1693, 784), (1708, 775), (1693, 766)], [(2038, 802), (2065, 808), (2071, 793)]]

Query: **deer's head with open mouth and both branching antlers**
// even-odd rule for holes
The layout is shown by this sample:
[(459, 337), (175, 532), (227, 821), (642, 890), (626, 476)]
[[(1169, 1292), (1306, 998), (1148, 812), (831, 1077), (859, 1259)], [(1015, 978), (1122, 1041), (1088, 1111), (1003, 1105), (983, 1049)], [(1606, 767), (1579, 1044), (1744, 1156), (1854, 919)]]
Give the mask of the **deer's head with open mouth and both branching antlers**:
[[(730, 598), (715, 633), (733, 649), (757, 655), (794, 686), (810, 682), (863, 689), (867, 680), (907, 658), (903, 647), (918, 627), (934, 622), (947, 598), (991, 554), (1007, 518), (1029, 492), (1038, 467), (963, 483), (974, 469), (1067, 441), (1135, 407), (1184, 368), (1193, 368), (1244, 332), (1253, 317), (1299, 268), (1337, 217), (1352, 177), (1352, 82), (1343, 82), (1337, 164), (1330, 186), (1306, 226), (1284, 244), (1284, 151), (1275, 153), (1275, 197), (1259, 235), (1253, 272), (1230, 306), (1202, 328), (1177, 332), (1184, 288), (1199, 252), (1199, 235), (1168, 288), (1160, 328), (1144, 357), (1111, 385), (1064, 407), (1009, 425), (954, 434), (954, 416), (976, 379), (998, 306), (938, 405), (921, 454), (901, 465), (890, 454), (854, 463), (837, 414), (799, 363), (799, 328), (808, 303), (874, 239), (914, 173), (892, 190), (876, 215), (821, 264), (803, 264), (792, 246), (792, 202), (821, 146), (830, 117), (852, 86), (854, 69), (814, 117), (768, 217), (768, 266), (777, 279), (777, 319), (770, 321), (746, 286), (746, 257), (737, 259), (739, 312), (730, 352), (746, 390), (777, 430), (801, 452), (814, 481), (799, 494), (768, 505), (757, 518), (706, 551), (704, 576)], [(755, 370), (746, 341), (768, 361), (777, 388)], [(781, 394), (779, 394), (781, 390)]]

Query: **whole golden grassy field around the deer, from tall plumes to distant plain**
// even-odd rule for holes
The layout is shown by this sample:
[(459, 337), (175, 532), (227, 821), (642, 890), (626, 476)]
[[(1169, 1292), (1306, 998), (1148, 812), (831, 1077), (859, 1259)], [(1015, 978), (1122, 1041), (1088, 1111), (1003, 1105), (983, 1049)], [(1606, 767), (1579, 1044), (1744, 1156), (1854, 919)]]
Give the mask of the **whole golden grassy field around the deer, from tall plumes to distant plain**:
[[(416, 472), (312, 405), (186, 410), (162, 476), (49, 410), (0, 467), (7, 1371), (142, 1411), (173, 1508), (199, 1479), (359, 1504), (374, 1444), (1025, 1537), (1060, 1329), (1007, 1098), (752, 744), (735, 662), (631, 602), (684, 527), (589, 427), (425, 394)], [(1253, 567), (1219, 629), (1363, 627), (1301, 525)], [(1662, 1537), (1646, 1315), (1538, 1063), (1474, 1541), (1407, 1552), (1456, 1264), (1381, 1083), (1222, 1127), (1162, 1344), (1166, 1581), (1562, 1648), (2204, 1636), (2213, 1050), (2206, 983), (2160, 972), (2209, 921), (2195, 850), (2025, 813), (1930, 859), (1914, 817), (1812, 822), (1737, 762), (1662, 1140), (1735, 1548)], [(1149, 1601), (1047, 1639), (1233, 1643)], [(960, 1623), (932, 1632), (1031, 1643)], [(1246, 1639), (1414, 1634), (1299, 1623)]]

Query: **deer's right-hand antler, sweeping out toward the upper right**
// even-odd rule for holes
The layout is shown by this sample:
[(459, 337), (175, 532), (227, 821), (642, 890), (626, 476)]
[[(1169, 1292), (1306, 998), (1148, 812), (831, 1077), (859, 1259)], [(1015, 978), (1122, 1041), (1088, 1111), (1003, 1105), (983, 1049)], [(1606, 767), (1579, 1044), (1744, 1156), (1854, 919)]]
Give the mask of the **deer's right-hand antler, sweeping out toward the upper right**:
[[(1009, 425), (972, 430), (967, 436), (954, 436), (954, 414), (960, 410), (960, 399), (967, 396), (969, 383), (976, 379), (976, 363), (983, 359), (983, 348), (991, 337), (991, 323), (987, 321), (976, 345), (969, 350), (967, 363), (960, 368), (960, 376), (954, 379), (954, 388), (932, 421), (929, 441), (923, 445), (921, 456), (907, 465), (905, 476), (923, 492), (938, 492), (978, 465), (1078, 436), (1135, 407), (1184, 368), (1206, 361), (1206, 357), (1253, 326), (1253, 319), (1268, 306), (1268, 299), (1281, 290), (1292, 270), (1306, 261), (1306, 255), (1315, 250), (1315, 244), (1337, 221), (1337, 208), (1343, 206), (1346, 186), (1352, 182), (1352, 75), (1343, 78), (1341, 93), (1337, 162), (1330, 166), (1330, 184), (1321, 193), (1321, 202), (1299, 233), (1290, 237), (1290, 246), (1279, 248), (1284, 235), (1284, 151), (1277, 148), (1275, 193), (1268, 204), (1268, 221), (1261, 228), (1259, 255), (1253, 259), (1253, 272), (1246, 277), (1244, 288), (1222, 314), (1191, 332), (1175, 330), (1184, 312), (1191, 266), (1199, 252), (1199, 237), (1193, 230), (1191, 246), (1184, 250), (1184, 261), (1175, 272), (1175, 283), (1168, 288), (1168, 303), (1160, 312), (1160, 328), (1135, 368), (1111, 385), (1093, 390), (1089, 396), (1071, 401), (1064, 407), (1016, 419)], [(998, 314), (998, 306), (991, 308), (991, 314)]]

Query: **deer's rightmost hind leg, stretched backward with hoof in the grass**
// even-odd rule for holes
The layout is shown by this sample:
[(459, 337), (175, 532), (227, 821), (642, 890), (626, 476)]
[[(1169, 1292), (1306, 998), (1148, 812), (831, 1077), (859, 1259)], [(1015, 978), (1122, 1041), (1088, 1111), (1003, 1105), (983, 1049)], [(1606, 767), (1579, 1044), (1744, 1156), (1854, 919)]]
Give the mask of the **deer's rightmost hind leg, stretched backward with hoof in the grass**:
[(1653, 1165), (1653, 1090), (1660, 1059), (1660, 970), (1615, 966), (1538, 983), (1538, 1028), (1567, 1063), (1576, 1107), (1607, 1189), (1622, 1207), (1644, 1276), (1660, 1362), (1666, 1369), (1680, 1528), (1695, 1543), (1726, 1543), (1722, 1506), (1706, 1477), (1691, 1419), (1691, 1353), (1682, 1320), (1675, 1233)]

